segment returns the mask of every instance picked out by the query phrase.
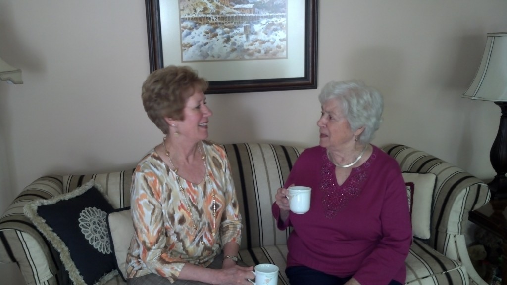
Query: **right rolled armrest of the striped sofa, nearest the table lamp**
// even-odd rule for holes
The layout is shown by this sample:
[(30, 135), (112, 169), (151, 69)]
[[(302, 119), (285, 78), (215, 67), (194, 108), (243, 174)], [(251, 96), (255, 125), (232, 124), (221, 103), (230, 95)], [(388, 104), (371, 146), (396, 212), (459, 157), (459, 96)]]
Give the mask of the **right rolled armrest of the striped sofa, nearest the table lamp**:
[(440, 158), (408, 146), (390, 144), (383, 150), (398, 161), (402, 171), (437, 175), (429, 245), (446, 254), (447, 234), (463, 234), (468, 213), (489, 201), (491, 194), (487, 184)]

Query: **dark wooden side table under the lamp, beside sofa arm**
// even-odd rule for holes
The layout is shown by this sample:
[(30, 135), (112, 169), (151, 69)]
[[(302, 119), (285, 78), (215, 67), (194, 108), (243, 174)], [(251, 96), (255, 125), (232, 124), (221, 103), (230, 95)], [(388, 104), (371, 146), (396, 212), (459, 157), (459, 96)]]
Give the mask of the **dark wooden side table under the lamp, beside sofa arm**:
[[(470, 212), (468, 220), (501, 240), (502, 285), (507, 285), (507, 199), (490, 200), (484, 207)], [(479, 241), (480, 242), (480, 241)], [(480, 242), (481, 243), (481, 242)], [(491, 260), (490, 260), (491, 261)]]

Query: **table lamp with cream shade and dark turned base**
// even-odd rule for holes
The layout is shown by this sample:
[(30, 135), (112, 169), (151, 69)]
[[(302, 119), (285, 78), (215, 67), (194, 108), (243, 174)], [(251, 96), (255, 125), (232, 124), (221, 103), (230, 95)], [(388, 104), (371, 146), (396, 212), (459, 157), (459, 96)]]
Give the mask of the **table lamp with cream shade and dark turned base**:
[(496, 175), (488, 186), (493, 198), (507, 197), (507, 32), (488, 33), (486, 48), (477, 74), (462, 95), (493, 101), (500, 107), (500, 125), (489, 159)]

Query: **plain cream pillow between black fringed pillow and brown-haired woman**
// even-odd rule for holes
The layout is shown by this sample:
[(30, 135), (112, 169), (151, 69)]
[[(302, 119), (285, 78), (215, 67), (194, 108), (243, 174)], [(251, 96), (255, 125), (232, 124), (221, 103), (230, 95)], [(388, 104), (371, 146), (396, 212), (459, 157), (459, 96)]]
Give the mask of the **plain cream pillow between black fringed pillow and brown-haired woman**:
[(111, 242), (113, 244), (113, 251), (115, 252), (118, 272), (122, 279), (127, 281), (125, 278), (125, 276), (127, 276), (127, 252), (130, 247), (132, 236), (134, 235), (134, 225), (132, 224), (130, 207), (118, 209), (107, 215), (107, 226), (111, 233)]

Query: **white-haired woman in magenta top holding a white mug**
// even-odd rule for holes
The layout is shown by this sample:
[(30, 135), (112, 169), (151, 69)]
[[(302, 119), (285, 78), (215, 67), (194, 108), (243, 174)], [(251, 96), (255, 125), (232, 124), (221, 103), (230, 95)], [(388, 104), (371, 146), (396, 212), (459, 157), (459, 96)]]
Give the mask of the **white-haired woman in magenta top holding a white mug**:
[[(383, 98), (363, 82), (330, 82), (319, 95), (319, 145), (299, 156), (273, 203), (287, 241), (291, 285), (400, 285), (412, 242), (397, 162), (372, 141)], [(290, 211), (287, 188), (309, 186), (310, 210)]]

